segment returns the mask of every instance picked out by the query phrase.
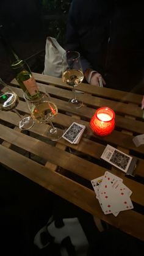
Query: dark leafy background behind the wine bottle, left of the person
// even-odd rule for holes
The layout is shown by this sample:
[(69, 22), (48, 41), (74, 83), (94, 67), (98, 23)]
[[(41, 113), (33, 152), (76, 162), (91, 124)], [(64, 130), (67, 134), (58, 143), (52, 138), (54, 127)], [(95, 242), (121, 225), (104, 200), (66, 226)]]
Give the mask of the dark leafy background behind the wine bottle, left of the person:
[[(71, 0), (1, 0), (0, 25), (16, 53), (32, 71), (41, 73), (45, 61), (46, 36), (65, 45), (67, 14)], [(0, 77), (13, 79), (9, 58), (0, 40)]]

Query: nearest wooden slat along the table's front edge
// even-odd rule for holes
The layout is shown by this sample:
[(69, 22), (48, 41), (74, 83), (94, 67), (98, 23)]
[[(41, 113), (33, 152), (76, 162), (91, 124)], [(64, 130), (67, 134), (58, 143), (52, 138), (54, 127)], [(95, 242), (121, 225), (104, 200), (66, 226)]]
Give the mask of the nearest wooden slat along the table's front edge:
[[(19, 159), (19, 163), (16, 161), (17, 159)], [(112, 214), (109, 216), (104, 215), (95, 198), (95, 192), (56, 172), (52, 172), (52, 170), (35, 163), (31, 159), (27, 159), (23, 155), (12, 152), (9, 148), (2, 147), (2, 145), (0, 145), (0, 161), (10, 168), (13, 168), (13, 170), (16, 170), (16, 172), (24, 175), (24, 177), (58, 194), (63, 197), (63, 199), (74, 203), (83, 210), (88, 211), (93, 214), (93, 216), (106, 221), (110, 225), (114, 225), (118, 229), (123, 230), (123, 232), (129, 233), (129, 235), (143, 240), (144, 216), (142, 214), (129, 210), (121, 212), (117, 218), (112, 216)], [(65, 186), (65, 183), (67, 183), (67, 186)], [(121, 219), (123, 221), (121, 221)], [(135, 219), (135, 221), (131, 225), (133, 219)]]

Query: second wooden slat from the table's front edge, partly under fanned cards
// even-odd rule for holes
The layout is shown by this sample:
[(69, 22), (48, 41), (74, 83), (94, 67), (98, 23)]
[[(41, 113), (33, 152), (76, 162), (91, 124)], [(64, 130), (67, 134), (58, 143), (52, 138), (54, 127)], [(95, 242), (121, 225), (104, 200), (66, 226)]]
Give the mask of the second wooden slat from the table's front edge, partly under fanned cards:
[[(7, 139), (8, 142), (16, 145), (17, 147), (22, 147), (24, 150), (48, 160), (52, 164), (56, 164), (57, 166), (63, 167), (63, 169), (70, 170), (70, 172), (73, 172), (74, 174), (77, 174), (89, 181), (93, 180), (93, 178), (104, 175), (104, 172), (107, 170), (104, 167), (79, 158), (79, 156), (63, 152), (63, 150), (60, 150), (59, 148), (52, 147), (52, 145), (38, 141), (38, 139), (13, 131), (12, 129), (2, 125), (0, 125), (0, 137), (4, 140)], [(45, 148), (45, 151), (43, 151), (43, 148)], [(79, 163), (79, 169), (76, 169), (77, 163)], [(117, 173), (117, 170), (113, 172)], [(136, 181), (129, 181), (128, 178), (122, 176), (123, 173), (120, 173), (120, 175), (123, 178), (124, 184), (132, 191), (136, 191), (136, 193), (132, 194), (132, 200), (144, 205), (144, 197), (142, 196), (144, 185), (141, 185)]]

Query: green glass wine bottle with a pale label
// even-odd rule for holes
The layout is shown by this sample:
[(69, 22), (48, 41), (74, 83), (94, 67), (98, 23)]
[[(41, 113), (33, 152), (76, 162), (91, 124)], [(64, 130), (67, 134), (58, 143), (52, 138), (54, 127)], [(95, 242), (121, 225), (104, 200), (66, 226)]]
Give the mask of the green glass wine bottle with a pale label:
[(20, 85), (21, 89), (27, 93), (29, 98), (37, 98), (40, 95), (40, 92), (37, 87), (37, 83), (32, 76), (31, 69), (25, 60), (20, 59), (18, 54), (15, 53), (15, 50), (12, 46), (1, 36), (2, 44), (9, 54), (10, 68), (12, 68), (16, 81)]

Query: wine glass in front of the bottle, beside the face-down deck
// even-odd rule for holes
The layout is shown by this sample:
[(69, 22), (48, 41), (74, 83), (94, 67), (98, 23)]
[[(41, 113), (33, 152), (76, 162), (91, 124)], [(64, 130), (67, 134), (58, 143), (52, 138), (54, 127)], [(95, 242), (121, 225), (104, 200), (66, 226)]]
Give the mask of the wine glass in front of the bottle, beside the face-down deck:
[(58, 141), (63, 135), (63, 127), (60, 125), (53, 125), (51, 120), (58, 113), (57, 106), (51, 101), (48, 93), (40, 92), (38, 98), (29, 98), (24, 92), (24, 99), (29, 106), (32, 118), (39, 123), (49, 123), (51, 127), (48, 130), (48, 138), (52, 141)]

